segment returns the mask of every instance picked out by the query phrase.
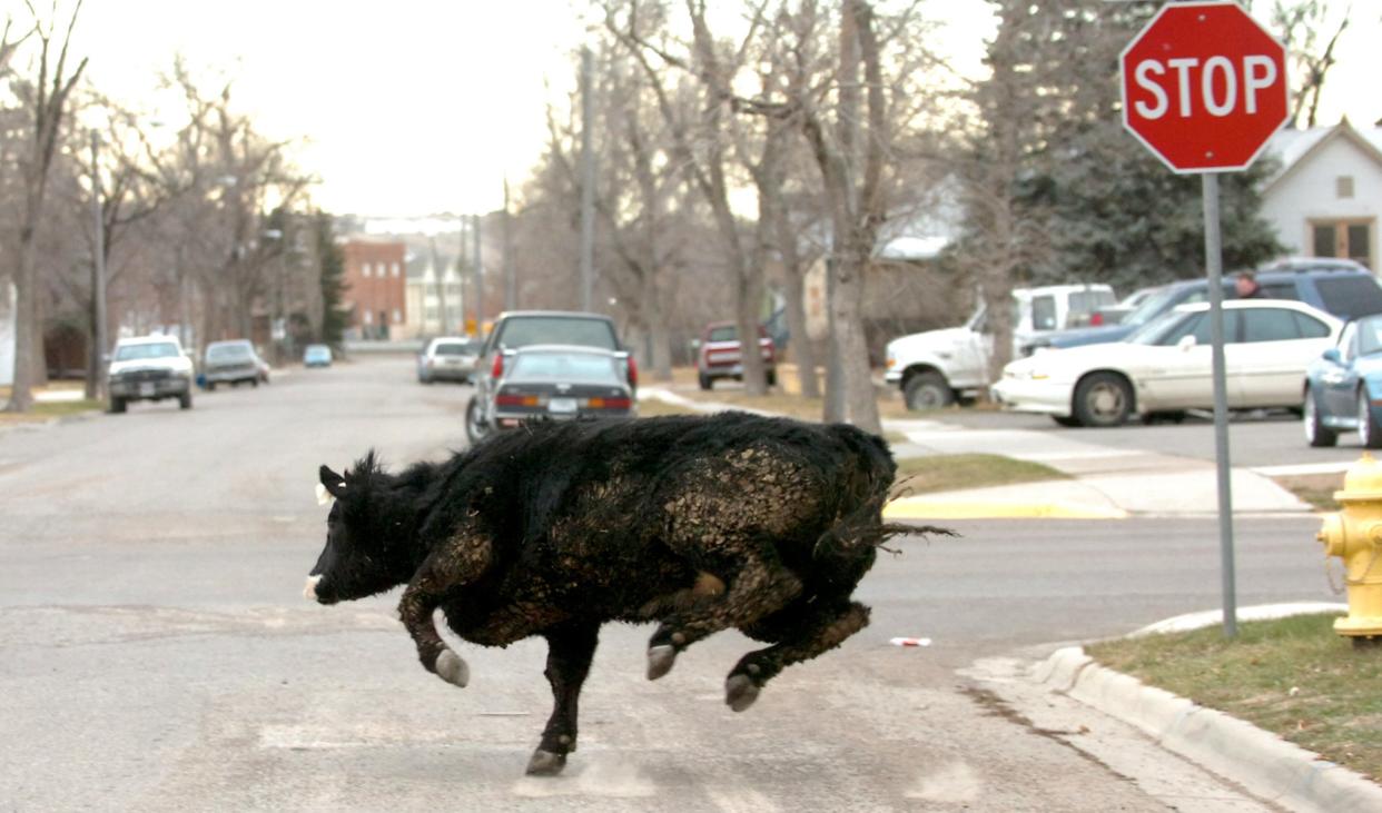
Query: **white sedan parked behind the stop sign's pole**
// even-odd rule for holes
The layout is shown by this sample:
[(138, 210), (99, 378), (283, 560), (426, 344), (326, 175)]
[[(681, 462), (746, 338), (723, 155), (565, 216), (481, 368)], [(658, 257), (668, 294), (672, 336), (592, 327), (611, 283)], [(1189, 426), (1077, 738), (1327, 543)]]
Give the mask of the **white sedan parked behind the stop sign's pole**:
[[(1343, 323), (1292, 300), (1223, 304), (1230, 409), (1300, 409), (1305, 369)], [(1117, 427), (1132, 414), (1213, 407), (1209, 304), (1182, 305), (1124, 341), (1039, 351), (1003, 367), (994, 396), (1063, 427)]]

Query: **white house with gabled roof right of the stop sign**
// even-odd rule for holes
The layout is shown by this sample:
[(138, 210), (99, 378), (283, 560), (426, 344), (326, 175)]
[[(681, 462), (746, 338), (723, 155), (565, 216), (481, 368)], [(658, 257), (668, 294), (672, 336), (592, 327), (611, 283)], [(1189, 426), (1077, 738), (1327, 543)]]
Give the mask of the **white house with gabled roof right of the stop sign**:
[(1288, 253), (1347, 257), (1378, 271), (1382, 127), (1282, 130), (1267, 145), (1281, 166), (1262, 189), (1262, 214)]

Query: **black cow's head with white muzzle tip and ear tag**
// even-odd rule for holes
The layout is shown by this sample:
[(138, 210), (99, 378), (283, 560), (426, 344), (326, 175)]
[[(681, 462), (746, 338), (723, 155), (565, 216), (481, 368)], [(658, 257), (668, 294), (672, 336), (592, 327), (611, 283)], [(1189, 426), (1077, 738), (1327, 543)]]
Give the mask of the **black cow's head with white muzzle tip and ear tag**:
[(334, 605), (408, 581), (412, 565), (399, 547), (398, 500), (375, 454), (346, 469), (344, 476), (325, 465), (318, 473), (333, 500), (326, 516), (326, 547), (307, 577), (303, 595)]

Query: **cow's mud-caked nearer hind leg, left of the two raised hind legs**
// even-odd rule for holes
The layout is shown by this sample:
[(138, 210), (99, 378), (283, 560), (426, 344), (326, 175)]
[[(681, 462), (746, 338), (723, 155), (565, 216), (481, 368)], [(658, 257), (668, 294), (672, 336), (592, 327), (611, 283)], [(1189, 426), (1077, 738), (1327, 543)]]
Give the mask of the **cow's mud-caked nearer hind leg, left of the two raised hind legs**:
[(648, 679), (672, 671), (677, 654), (697, 640), (731, 627), (745, 627), (786, 606), (802, 592), (802, 581), (771, 551), (746, 551), (737, 567), (708, 569), (726, 582), (726, 592), (662, 620), (648, 640)]

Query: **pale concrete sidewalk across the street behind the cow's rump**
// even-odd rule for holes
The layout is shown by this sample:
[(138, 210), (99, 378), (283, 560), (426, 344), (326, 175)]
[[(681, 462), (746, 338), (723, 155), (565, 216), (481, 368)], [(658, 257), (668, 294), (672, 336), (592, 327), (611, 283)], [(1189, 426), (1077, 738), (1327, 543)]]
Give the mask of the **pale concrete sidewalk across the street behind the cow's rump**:
[[(641, 388), (638, 398), (705, 413), (741, 409), (652, 386)], [(969, 429), (926, 420), (884, 420), (883, 431), (907, 438), (905, 443), (893, 444), (893, 454), (900, 460), (1003, 454), (1049, 465), (1071, 478), (901, 497), (889, 504), (889, 519), (1121, 519), (1132, 515), (1211, 516), (1219, 511), (1216, 469), (1204, 460), (1119, 451), (1050, 432)], [(1309, 505), (1259, 471), (1234, 468), (1230, 479), (1234, 513), (1310, 512)]]

